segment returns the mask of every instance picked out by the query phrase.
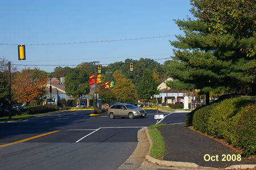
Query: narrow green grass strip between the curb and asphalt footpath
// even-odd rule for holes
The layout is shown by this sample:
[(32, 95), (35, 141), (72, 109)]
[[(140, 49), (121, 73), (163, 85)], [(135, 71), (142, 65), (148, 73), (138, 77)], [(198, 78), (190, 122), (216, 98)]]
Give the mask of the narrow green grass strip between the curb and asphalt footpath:
[(150, 156), (156, 159), (163, 160), (164, 152), (166, 151), (166, 146), (163, 141), (163, 136), (159, 130), (153, 129), (148, 130), (148, 134), (152, 140), (152, 148), (150, 150)]

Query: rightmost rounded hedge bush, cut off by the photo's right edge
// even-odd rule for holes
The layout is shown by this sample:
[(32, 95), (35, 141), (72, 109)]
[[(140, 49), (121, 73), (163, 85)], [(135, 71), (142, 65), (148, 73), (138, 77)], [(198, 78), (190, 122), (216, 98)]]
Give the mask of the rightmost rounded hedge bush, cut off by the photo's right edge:
[(245, 156), (256, 153), (256, 109), (254, 105), (241, 110), (236, 126), (236, 146), (243, 149)]

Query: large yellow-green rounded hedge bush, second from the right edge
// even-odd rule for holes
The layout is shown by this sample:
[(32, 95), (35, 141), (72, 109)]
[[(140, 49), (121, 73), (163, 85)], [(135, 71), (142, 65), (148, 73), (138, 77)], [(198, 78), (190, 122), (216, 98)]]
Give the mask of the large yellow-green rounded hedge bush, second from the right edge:
[[(209, 117), (209, 135), (217, 138), (224, 138), (226, 142), (235, 142), (236, 117), (234, 117), (243, 107), (252, 105), (248, 98), (237, 97), (225, 99), (214, 107)], [(233, 142), (232, 142), (233, 141)]]

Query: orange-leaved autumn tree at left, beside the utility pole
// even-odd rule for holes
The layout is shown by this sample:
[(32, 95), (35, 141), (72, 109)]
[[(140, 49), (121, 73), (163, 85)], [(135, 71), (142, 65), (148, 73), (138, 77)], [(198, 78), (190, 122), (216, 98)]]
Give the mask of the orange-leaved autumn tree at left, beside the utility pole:
[(19, 103), (39, 102), (46, 94), (46, 82), (46, 74), (38, 68), (22, 69), (22, 72), (17, 72), (13, 78), (11, 88), (14, 99)]

